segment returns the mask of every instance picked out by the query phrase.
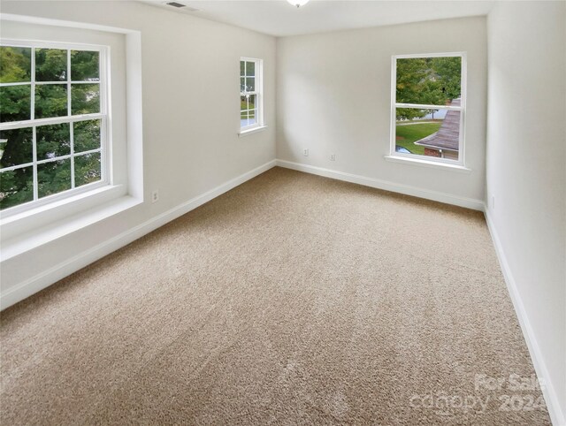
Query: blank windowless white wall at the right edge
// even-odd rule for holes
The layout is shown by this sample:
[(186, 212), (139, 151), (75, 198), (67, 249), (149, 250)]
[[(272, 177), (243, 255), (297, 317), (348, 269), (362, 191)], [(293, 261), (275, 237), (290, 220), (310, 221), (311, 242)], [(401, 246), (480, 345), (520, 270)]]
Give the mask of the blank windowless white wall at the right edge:
[(566, 424), (566, 3), (499, 2), (488, 41), (487, 215)]

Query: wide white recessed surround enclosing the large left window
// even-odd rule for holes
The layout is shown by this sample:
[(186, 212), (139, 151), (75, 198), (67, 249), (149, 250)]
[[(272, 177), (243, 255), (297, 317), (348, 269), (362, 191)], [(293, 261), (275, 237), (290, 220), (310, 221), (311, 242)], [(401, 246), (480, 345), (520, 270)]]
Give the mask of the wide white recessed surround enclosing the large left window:
[[(90, 226), (102, 229), (104, 220), (139, 208), (149, 202), (150, 194), (144, 185), (143, 168), (142, 32), (4, 12), (0, 13), (0, 25), (6, 39), (110, 46), (112, 63), (111, 68), (107, 66), (112, 118), (107, 141), (111, 185), (10, 217), (0, 211), (0, 262), (4, 264), (74, 232), (88, 232)], [(13, 298), (3, 296), (3, 307), (9, 306)]]

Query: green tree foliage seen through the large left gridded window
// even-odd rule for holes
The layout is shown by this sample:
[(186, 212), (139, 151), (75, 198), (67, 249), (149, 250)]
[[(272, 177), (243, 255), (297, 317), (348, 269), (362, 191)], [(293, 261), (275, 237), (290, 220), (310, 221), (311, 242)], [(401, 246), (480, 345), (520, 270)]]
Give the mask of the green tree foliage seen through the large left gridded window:
[[(35, 49), (35, 79), (38, 82), (61, 81), (60, 84), (38, 84), (34, 93), (34, 117), (52, 118), (68, 114), (66, 79), (68, 51)], [(88, 84), (71, 85), (72, 114), (100, 111), (99, 54), (71, 50), (71, 76)], [(0, 87), (0, 122), (25, 121), (31, 118), (31, 49), (0, 48), (0, 82), (24, 84)], [(73, 124), (75, 152), (100, 148), (100, 120)], [(31, 163), (33, 127), (0, 133), (0, 168)], [(71, 152), (70, 125), (36, 127), (37, 160), (53, 159), (37, 165), (38, 196), (57, 194), (72, 186), (71, 158), (57, 159)], [(75, 186), (101, 179), (100, 153), (74, 156)], [(8, 209), (34, 199), (33, 167), (0, 173), (0, 209)]]

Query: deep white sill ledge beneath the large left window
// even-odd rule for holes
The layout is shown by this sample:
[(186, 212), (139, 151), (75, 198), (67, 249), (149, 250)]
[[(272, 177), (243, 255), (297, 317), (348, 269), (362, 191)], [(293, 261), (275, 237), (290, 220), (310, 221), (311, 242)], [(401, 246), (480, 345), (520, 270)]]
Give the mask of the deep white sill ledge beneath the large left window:
[[(113, 192), (112, 189), (117, 190), (119, 188), (111, 186), (107, 192), (111, 194)], [(35, 224), (35, 226), (33, 224), (30, 225), (28, 221), (23, 221), (25, 222), (24, 224), (16, 223), (14, 225), (17, 226), (17, 233), (14, 234), (14, 229), (9, 229), (9, 236), (3, 232), (0, 261), (4, 262), (51, 241), (65, 237), (70, 233), (80, 231), (91, 224), (96, 224), (126, 209), (131, 209), (142, 202), (142, 200), (133, 196), (122, 195), (95, 208), (80, 210), (73, 216), (64, 217), (51, 223)], [(31, 218), (33, 219), (33, 217)], [(3, 224), (3, 227), (6, 225), (8, 224)]]

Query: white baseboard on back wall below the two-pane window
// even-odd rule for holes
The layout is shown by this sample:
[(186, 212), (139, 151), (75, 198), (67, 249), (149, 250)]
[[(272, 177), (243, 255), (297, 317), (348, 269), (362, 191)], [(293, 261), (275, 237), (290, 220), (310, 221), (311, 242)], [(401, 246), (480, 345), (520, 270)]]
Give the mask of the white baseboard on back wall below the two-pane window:
[(429, 189), (418, 188), (417, 186), (402, 185), (381, 179), (366, 178), (365, 176), (346, 173), (344, 171), (333, 171), (331, 169), (324, 169), (322, 167), (316, 167), (313, 165), (293, 163), (287, 160), (277, 160), (277, 165), (279, 165), (280, 167), (285, 167), (287, 169), (304, 171), (307, 173), (316, 174), (318, 176), (324, 176), (325, 178), (344, 180), (346, 182), (351, 182), (363, 186), (371, 186), (372, 188), (384, 189), (386, 191), (391, 191), (394, 193), (412, 195), (435, 202), (453, 204), (455, 206), (465, 207), (467, 209), (474, 209), (479, 211), (484, 210), (483, 201), (459, 197), (451, 194), (439, 193), (436, 191), (431, 191)]

